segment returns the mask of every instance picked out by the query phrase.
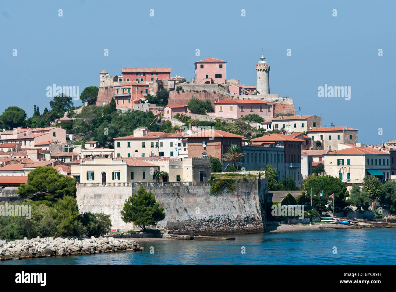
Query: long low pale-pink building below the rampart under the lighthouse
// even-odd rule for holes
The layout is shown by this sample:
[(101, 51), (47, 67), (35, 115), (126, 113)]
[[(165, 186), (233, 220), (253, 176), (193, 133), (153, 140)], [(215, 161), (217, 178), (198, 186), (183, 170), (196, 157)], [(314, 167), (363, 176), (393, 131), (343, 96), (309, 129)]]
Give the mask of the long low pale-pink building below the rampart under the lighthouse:
[(268, 106), (272, 107), (272, 102), (261, 100), (219, 100), (215, 102), (216, 116), (220, 118), (243, 118), (248, 114), (258, 114), (261, 117), (274, 117), (274, 111), (268, 111)]

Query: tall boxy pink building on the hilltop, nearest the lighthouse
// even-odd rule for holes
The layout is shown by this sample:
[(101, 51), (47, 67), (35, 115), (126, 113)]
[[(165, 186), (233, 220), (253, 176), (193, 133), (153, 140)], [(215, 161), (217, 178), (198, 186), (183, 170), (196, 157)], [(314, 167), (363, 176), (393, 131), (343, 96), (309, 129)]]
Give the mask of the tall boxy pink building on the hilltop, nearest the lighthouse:
[(206, 58), (196, 61), (195, 82), (196, 83), (226, 83), (226, 61)]

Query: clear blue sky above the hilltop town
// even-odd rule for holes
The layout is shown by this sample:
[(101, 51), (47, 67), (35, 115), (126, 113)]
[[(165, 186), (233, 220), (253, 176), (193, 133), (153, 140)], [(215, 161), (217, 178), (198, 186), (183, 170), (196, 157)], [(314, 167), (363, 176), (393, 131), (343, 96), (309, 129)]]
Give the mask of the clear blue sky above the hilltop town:
[[(206, 57), (226, 60), (227, 78), (255, 85), (263, 49), (271, 93), (292, 97), (300, 114), (322, 115), (323, 126), (358, 129), (359, 142), (385, 142), (396, 135), (395, 8), (393, 0), (2, 1), (0, 111), (19, 106), (29, 117), (36, 104), (42, 112), (47, 86), (81, 93), (99, 86), (103, 69), (170, 67), (193, 78)], [(318, 97), (325, 83), (350, 86), (351, 99)]]

